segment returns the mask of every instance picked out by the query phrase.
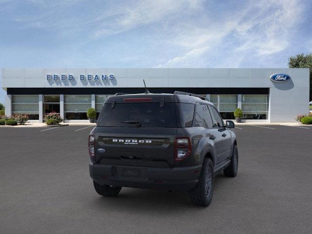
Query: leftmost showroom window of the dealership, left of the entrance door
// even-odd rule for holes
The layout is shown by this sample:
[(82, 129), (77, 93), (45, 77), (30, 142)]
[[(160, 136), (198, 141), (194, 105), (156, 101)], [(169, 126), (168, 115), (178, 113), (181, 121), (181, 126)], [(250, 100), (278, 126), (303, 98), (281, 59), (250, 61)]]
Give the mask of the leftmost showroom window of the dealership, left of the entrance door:
[(39, 119), (39, 95), (13, 95), (12, 114), (28, 115), (29, 119)]

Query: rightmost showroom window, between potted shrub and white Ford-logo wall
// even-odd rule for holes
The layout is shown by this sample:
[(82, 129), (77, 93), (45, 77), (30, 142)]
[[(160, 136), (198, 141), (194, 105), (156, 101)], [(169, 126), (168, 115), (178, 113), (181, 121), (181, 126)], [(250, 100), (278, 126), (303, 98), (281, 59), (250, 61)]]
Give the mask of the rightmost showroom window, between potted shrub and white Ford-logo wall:
[(268, 95), (242, 95), (242, 111), (246, 119), (268, 119)]

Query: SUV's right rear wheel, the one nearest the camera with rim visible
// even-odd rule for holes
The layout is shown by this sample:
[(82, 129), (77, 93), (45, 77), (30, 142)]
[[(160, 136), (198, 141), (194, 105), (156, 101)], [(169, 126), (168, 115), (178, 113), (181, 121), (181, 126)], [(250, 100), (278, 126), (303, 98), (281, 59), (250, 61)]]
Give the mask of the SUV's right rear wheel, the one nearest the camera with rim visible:
[(189, 196), (196, 206), (209, 206), (214, 193), (214, 164), (210, 158), (205, 158), (198, 183)]

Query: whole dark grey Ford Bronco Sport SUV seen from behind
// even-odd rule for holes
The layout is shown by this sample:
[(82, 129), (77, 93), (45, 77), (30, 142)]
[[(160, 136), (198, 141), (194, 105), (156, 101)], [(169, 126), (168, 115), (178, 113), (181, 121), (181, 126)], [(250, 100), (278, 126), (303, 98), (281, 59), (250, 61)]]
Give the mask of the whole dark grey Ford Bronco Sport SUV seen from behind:
[(233, 128), (199, 95), (109, 97), (88, 140), (94, 188), (103, 196), (122, 187), (188, 192), (195, 205), (208, 206), (214, 176), (237, 174)]

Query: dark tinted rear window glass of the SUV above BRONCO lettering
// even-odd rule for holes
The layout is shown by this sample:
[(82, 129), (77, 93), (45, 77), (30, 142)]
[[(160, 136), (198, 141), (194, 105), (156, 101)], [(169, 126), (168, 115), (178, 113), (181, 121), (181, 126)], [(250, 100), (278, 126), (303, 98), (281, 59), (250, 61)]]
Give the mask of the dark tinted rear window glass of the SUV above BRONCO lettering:
[(163, 107), (159, 102), (116, 103), (114, 108), (110, 103), (104, 104), (98, 126), (137, 126), (129, 121), (138, 121), (141, 127), (177, 127), (175, 103), (165, 103)]

